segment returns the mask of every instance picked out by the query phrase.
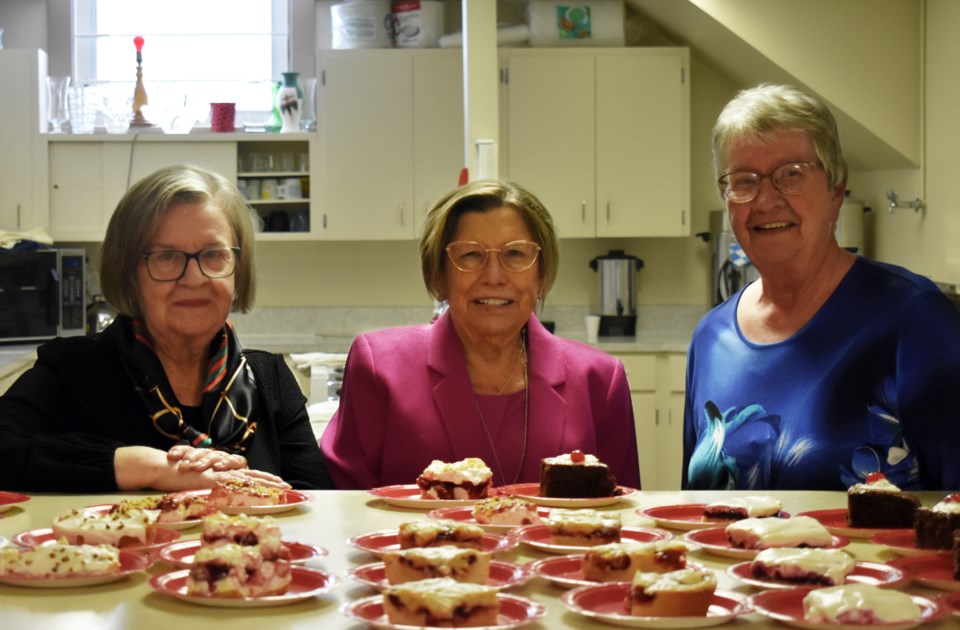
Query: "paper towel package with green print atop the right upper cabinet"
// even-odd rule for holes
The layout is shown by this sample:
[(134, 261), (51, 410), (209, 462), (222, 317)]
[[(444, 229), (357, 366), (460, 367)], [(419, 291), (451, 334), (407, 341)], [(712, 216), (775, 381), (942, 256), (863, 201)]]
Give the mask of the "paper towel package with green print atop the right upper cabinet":
[(623, 46), (623, 0), (530, 0), (532, 46)]

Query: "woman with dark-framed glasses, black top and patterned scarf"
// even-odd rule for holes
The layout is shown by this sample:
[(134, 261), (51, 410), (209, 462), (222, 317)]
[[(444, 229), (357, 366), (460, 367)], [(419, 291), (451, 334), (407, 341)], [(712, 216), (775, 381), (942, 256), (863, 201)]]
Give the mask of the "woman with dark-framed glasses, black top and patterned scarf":
[(173, 166), (120, 200), (100, 253), (119, 315), (54, 339), (0, 397), (4, 488), (57, 492), (330, 487), (282, 357), (227, 322), (253, 306), (253, 220), (220, 175)]

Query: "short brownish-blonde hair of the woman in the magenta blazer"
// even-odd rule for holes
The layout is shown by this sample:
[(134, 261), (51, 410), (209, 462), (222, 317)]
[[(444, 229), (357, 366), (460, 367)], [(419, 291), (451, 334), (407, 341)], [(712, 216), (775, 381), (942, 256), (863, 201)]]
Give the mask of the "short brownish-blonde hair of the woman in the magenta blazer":
[(487, 212), (510, 207), (520, 213), (523, 222), (540, 246), (541, 300), (553, 287), (560, 267), (560, 245), (553, 219), (533, 193), (509, 181), (483, 179), (470, 182), (439, 199), (423, 224), (420, 235), (420, 266), (427, 292), (435, 299), (442, 295), (446, 265), (446, 247), (457, 231), (460, 217), (468, 212)]

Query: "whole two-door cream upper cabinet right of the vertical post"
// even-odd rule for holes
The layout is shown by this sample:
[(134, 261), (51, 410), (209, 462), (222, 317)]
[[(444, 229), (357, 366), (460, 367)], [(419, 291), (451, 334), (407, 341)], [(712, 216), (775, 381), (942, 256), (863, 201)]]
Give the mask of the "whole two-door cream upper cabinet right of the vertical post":
[(561, 237), (689, 234), (688, 49), (502, 54), (505, 171)]

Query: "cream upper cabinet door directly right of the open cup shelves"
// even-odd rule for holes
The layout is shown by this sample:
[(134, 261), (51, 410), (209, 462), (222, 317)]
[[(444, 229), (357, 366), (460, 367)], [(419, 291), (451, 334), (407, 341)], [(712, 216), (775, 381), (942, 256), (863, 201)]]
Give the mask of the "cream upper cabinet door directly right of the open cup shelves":
[[(395, 51), (386, 51), (393, 53)], [(325, 238), (412, 239), (413, 62), (382, 51), (319, 58)], [(452, 186), (451, 186), (452, 188)]]

